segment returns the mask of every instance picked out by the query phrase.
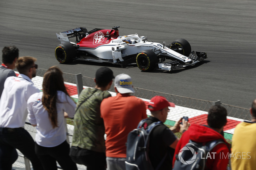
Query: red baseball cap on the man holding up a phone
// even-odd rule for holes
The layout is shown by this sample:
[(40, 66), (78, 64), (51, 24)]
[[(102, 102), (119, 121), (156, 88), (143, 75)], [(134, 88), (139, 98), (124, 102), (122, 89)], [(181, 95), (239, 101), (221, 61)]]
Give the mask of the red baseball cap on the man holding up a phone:
[[(155, 96), (153, 97), (150, 102), (148, 103), (148, 110), (151, 112), (161, 110), (165, 107), (175, 107), (174, 103), (169, 102), (165, 97), (163, 96)], [(153, 107), (153, 108), (152, 108)]]

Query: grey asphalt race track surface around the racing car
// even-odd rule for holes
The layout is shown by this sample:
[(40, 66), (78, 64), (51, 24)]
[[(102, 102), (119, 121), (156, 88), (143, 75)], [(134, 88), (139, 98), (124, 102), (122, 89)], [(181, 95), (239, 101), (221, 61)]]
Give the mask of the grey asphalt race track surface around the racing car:
[[(126, 73), (144, 89), (250, 108), (256, 98), (255, 0), (1, 0), (0, 48), (15, 45), (20, 56), (37, 58), (39, 68), (58, 65), (63, 72), (94, 78), (108, 66)], [(74, 61), (59, 64), (56, 34), (76, 27), (138, 33), (170, 44), (186, 39), (208, 59), (189, 69), (141, 72), (136, 65)]]

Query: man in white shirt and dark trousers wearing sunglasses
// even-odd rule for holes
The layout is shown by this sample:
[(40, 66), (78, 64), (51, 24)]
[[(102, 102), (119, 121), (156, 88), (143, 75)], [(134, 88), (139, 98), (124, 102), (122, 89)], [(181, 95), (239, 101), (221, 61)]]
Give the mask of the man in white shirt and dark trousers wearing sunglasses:
[(11, 169), (9, 162), (3, 162), (6, 149), (16, 148), (27, 157), (34, 170), (42, 169), (41, 163), (35, 153), (35, 142), (29, 133), (23, 128), (28, 112), (28, 98), (40, 92), (31, 81), (36, 77), (37, 64), (34, 57), (19, 57), (16, 68), (20, 75), (8, 77), (4, 83), (4, 90), (0, 99), (0, 170)]

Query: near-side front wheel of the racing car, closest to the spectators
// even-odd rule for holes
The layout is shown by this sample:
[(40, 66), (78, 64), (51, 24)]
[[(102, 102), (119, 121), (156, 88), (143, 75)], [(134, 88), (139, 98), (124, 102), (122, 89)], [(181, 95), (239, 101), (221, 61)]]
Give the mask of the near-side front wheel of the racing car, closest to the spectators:
[(140, 70), (151, 71), (156, 68), (158, 58), (152, 50), (143, 50), (136, 57), (136, 63)]

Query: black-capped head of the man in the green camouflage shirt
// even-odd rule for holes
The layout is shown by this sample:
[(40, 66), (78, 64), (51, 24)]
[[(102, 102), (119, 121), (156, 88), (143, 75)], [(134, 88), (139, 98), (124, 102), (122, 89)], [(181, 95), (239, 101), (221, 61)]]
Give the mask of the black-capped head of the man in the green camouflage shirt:
[(113, 78), (115, 78), (113, 71), (108, 67), (101, 67), (96, 71), (95, 81), (99, 87), (107, 86)]

